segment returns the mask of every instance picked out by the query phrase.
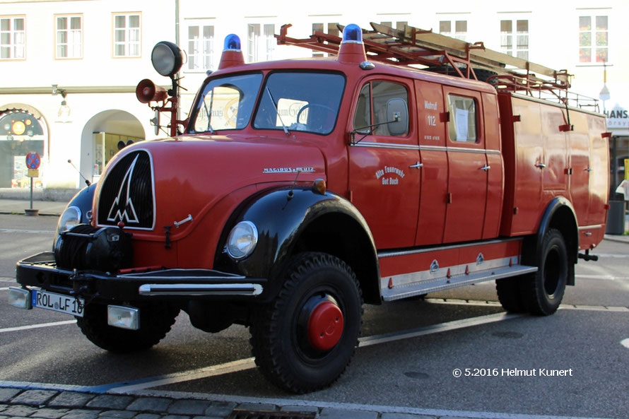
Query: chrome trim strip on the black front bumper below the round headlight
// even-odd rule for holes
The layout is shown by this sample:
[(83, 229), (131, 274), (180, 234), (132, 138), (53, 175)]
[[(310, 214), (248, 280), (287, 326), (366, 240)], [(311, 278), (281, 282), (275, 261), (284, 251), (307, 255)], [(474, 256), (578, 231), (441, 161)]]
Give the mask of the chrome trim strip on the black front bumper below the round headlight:
[(262, 293), (260, 284), (143, 284), (140, 295), (244, 295)]

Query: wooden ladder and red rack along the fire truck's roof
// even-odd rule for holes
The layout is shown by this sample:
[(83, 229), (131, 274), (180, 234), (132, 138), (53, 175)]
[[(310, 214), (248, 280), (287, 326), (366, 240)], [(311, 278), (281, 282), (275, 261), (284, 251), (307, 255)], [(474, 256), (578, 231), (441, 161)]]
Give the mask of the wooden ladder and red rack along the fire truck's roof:
[[(372, 61), (403, 66), (425, 66), (431, 71), (476, 80), (478, 80), (476, 71), (479, 69), (492, 71), (495, 76), (490, 77), (488, 82), (495, 85), (498, 90), (524, 93), (563, 103), (572, 100), (568, 95), (572, 75), (568, 74), (567, 70), (553, 70), (541, 64), (493, 51), (486, 48), (483, 42), (471, 44), (433, 33), (432, 30), (408, 25), (405, 25), (403, 30), (378, 23), (370, 25), (371, 30), (363, 29), (363, 42), (367, 57)], [(287, 35), (290, 26), (292, 25), (282, 25), (280, 34), (275, 35), (278, 45), (294, 45), (328, 54), (339, 53), (341, 37), (315, 31), (310, 37), (295, 39)], [(341, 32), (345, 28), (343, 25), (337, 27)]]

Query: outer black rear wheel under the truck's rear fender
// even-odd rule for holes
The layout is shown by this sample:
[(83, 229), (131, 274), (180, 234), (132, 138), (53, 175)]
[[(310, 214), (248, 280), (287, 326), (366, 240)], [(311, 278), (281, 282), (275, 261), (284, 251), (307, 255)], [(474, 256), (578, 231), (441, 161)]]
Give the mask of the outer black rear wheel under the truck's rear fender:
[(548, 230), (538, 249), (538, 271), (524, 278), (522, 301), (531, 314), (548, 316), (559, 308), (568, 283), (568, 248), (559, 230)]

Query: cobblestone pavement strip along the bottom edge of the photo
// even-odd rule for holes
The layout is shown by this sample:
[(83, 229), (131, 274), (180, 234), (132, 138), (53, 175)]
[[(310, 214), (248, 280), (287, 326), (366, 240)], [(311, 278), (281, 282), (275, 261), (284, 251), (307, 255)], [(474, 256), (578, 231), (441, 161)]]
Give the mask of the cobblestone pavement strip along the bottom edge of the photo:
[(236, 396), (228, 400), (221, 399), (226, 396), (160, 391), (95, 394), (33, 387), (0, 385), (0, 419), (586, 419), (283, 399), (257, 402)]

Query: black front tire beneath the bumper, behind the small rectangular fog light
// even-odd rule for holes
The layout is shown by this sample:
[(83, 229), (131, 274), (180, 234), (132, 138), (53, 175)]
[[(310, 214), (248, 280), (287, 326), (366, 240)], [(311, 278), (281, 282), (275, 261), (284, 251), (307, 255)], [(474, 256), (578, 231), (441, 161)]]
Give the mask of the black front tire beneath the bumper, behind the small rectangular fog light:
[(166, 336), (180, 309), (155, 303), (138, 308), (138, 330), (120, 329), (107, 324), (107, 305), (102, 304), (86, 305), (83, 317), (77, 317), (76, 324), (92, 343), (102, 349), (117, 353), (145, 350)]

